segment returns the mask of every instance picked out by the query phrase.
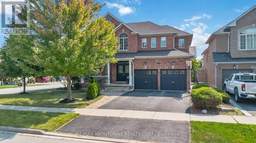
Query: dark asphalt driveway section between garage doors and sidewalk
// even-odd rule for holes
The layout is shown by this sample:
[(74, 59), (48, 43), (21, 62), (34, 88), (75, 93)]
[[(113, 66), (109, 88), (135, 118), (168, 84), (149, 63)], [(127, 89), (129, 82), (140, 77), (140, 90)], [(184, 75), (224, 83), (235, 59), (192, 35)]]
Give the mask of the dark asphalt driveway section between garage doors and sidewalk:
[(190, 113), (190, 95), (187, 92), (131, 91), (99, 108)]

